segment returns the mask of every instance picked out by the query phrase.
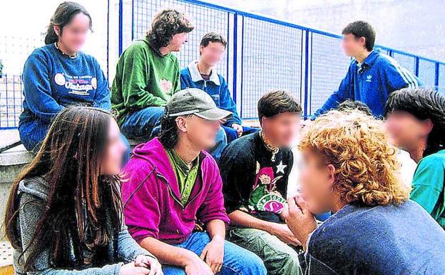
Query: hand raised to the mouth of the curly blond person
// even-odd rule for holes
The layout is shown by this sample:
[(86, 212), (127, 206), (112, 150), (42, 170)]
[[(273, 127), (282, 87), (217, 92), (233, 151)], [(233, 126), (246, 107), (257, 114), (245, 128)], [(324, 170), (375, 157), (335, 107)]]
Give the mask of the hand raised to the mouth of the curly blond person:
[(317, 229), (317, 221), (309, 211), (307, 202), (300, 194), (288, 199), (287, 205), (289, 207), (289, 216), (286, 219), (287, 226), (302, 242), (303, 249), (306, 250), (307, 238), (312, 231)]

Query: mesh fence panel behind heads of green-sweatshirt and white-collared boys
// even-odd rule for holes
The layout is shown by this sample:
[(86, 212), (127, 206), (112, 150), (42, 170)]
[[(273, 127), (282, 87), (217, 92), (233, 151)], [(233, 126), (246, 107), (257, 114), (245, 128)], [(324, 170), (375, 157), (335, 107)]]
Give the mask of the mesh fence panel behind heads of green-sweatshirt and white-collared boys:
[[(179, 53), (177, 53), (181, 67), (188, 66), (191, 61), (198, 59), (201, 38), (209, 31), (215, 31), (218, 34), (223, 35), (225, 39), (228, 39), (228, 29), (230, 26), (229, 14), (227, 12), (175, 0), (134, 0), (133, 39), (143, 38), (148, 29), (150, 29), (153, 16), (163, 9), (178, 9), (178, 11), (182, 11), (188, 16), (188, 19), (192, 21), (193, 26), (195, 26), (195, 29), (188, 34), (188, 43), (183, 46), (183, 49), (181, 49)], [(227, 51), (230, 50), (229, 48), (230, 43), (227, 43), (225, 56), (223, 56), (220, 64), (216, 67), (218, 73), (222, 74), (226, 79)]]

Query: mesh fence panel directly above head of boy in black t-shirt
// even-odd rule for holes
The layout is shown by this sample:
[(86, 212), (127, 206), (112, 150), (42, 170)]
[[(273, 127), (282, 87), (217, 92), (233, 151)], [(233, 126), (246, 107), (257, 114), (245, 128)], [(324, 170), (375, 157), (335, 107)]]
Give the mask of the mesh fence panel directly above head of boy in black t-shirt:
[(245, 18), (242, 39), (242, 117), (257, 117), (257, 101), (270, 90), (300, 99), (302, 30)]

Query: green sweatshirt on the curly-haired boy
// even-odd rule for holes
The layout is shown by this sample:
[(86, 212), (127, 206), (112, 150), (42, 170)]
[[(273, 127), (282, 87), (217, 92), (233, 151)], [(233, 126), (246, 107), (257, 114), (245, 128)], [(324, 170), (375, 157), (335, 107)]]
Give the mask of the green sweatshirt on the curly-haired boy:
[(111, 87), (111, 107), (122, 124), (128, 114), (149, 106), (165, 106), (180, 90), (179, 62), (173, 54), (161, 56), (145, 39), (123, 51)]

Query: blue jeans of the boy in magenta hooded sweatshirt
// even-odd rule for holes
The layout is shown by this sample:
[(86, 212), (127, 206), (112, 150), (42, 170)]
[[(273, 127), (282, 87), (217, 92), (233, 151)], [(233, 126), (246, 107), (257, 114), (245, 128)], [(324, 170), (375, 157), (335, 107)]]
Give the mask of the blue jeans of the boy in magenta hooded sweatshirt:
[[(207, 232), (194, 232), (186, 241), (176, 246), (193, 251), (200, 256), (209, 242), (210, 237)], [(178, 266), (163, 266), (163, 272), (165, 275), (185, 275), (185, 270)], [(266, 274), (266, 268), (257, 255), (230, 241), (225, 241), (223, 267), (218, 274), (263, 275)]]

